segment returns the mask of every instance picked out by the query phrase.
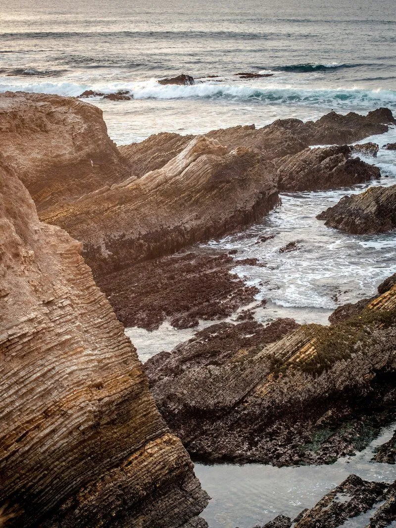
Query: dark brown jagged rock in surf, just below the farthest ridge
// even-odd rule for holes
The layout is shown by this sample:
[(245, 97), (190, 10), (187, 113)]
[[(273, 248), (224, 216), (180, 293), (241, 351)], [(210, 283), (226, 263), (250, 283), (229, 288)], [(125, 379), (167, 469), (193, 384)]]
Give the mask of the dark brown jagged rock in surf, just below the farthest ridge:
[(306, 148), (276, 161), (279, 191), (316, 191), (352, 187), (368, 180), (378, 180), (378, 167), (351, 157), (347, 145)]

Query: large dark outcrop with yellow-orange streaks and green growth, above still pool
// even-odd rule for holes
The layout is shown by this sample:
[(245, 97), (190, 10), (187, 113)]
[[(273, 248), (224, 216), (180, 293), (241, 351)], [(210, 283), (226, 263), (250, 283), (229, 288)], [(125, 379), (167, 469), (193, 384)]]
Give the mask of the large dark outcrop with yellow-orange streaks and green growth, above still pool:
[(336, 325), (305, 325), (225, 356), (215, 340), (207, 355), (195, 354), (198, 335), (145, 370), (159, 410), (194, 456), (329, 463), (365, 447), (393, 412), (395, 314), (393, 286)]

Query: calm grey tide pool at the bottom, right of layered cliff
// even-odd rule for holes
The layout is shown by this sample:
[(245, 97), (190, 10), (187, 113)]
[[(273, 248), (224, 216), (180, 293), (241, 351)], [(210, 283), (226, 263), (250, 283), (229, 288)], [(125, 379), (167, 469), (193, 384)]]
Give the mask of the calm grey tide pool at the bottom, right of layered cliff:
[[(366, 480), (393, 482), (396, 466), (371, 462), (373, 450), (391, 439), (396, 422), (354, 457), (332, 465), (277, 468), (261, 464), (195, 464), (195, 474), (212, 500), (202, 513), (210, 528), (251, 528), (280, 514), (292, 519), (314, 506), (351, 473)], [(363, 528), (356, 518), (350, 527)]]

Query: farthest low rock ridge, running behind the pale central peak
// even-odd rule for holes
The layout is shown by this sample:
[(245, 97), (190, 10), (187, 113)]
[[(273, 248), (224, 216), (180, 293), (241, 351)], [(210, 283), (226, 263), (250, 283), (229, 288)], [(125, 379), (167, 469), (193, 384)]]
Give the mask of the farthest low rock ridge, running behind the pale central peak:
[[(388, 131), (388, 124), (394, 123), (392, 112), (380, 108), (369, 112), (367, 116), (354, 112), (342, 116), (330, 112), (317, 121), (304, 123), (299, 119), (278, 119), (262, 128), (244, 125), (212, 130), (205, 135), (217, 139), (229, 150), (240, 146), (256, 148), (263, 159), (274, 160), (296, 154), (309, 145), (344, 145), (372, 134), (382, 134)], [(165, 165), (185, 148), (192, 137), (169, 133), (156, 134), (141, 143), (121, 146), (119, 149), (133, 164), (136, 174), (143, 175), (148, 170)]]

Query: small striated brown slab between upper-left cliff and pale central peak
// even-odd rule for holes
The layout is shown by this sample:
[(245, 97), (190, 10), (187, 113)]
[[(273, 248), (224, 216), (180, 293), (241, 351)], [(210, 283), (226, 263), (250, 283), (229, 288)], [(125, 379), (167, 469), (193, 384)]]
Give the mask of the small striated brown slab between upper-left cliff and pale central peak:
[(193, 137), (162, 132), (153, 134), (139, 143), (122, 145), (118, 149), (122, 156), (133, 165), (134, 174), (140, 177), (166, 165), (182, 152)]

